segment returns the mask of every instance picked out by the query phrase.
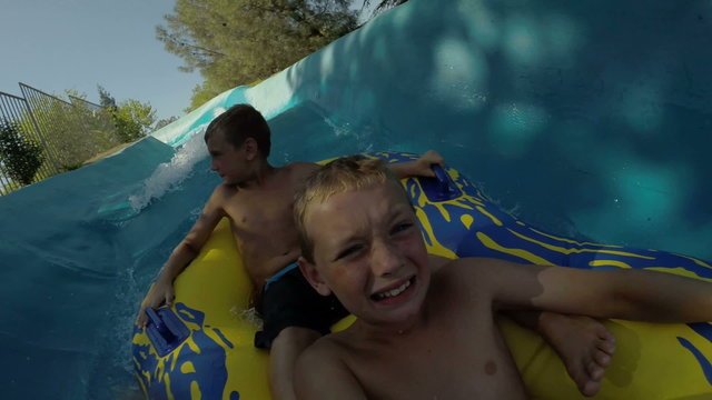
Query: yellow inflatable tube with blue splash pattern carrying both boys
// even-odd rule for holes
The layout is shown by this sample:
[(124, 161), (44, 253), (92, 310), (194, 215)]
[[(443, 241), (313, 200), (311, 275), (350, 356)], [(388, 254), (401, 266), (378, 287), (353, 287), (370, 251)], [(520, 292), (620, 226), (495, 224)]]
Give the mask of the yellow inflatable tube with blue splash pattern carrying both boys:
[[(412, 158), (389, 152), (372, 156), (388, 162)], [(457, 171), (448, 170), (447, 179), (452, 193), (446, 199), (431, 196), (432, 188), (422, 181), (404, 181), (431, 253), (574, 268), (645, 268), (712, 281), (712, 268), (701, 260), (578, 243), (530, 228), (497, 210)], [(176, 279), (175, 288), (175, 304), (158, 312), (158, 323), (162, 321), (168, 333), (156, 333), (149, 324), (151, 329), (137, 329), (132, 338), (136, 376), (147, 397), (269, 399), (268, 353), (253, 346), (259, 321), (247, 310), (250, 281), (227, 220)], [(335, 329), (346, 327), (350, 318)], [(583, 399), (541, 337), (505, 318), (500, 326), (530, 396)], [(712, 398), (712, 324), (615, 320), (606, 326), (616, 336), (617, 350), (594, 399)]]

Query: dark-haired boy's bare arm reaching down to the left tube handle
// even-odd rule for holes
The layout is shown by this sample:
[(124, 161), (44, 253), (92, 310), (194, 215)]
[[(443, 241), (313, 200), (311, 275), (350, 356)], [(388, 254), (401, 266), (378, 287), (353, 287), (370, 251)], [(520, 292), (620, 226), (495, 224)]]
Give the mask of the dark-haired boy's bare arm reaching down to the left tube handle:
[(156, 282), (150, 287), (148, 293), (141, 301), (136, 324), (144, 328), (148, 322), (146, 317), (147, 308), (156, 308), (162, 302), (170, 304), (174, 300), (174, 280), (182, 270), (192, 261), (202, 249), (202, 246), (210, 237), (210, 233), (218, 224), (220, 219), (225, 217), (221, 201), (221, 189), (218, 188), (212, 192), (210, 199), (205, 204), (200, 217), (192, 226), (184, 240), (170, 253), (170, 257), (160, 269)]

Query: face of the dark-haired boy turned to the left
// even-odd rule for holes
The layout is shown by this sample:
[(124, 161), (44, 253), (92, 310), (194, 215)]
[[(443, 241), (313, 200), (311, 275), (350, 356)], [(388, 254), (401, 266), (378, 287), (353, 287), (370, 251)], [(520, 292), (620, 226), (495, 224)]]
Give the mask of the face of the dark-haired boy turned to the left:
[(206, 144), (211, 158), (210, 169), (217, 172), (225, 183), (239, 184), (247, 179), (248, 161), (251, 160), (249, 140), (236, 148), (222, 133), (216, 132), (208, 138)]

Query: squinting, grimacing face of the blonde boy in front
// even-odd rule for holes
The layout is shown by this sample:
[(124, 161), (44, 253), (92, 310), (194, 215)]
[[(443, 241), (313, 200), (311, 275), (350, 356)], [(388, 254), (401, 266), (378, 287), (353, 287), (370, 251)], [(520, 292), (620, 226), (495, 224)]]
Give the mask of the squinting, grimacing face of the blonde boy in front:
[(301, 260), (322, 294), (369, 323), (412, 320), (429, 284), (427, 252), (415, 213), (396, 182), (332, 196), (310, 204), (305, 227), (314, 262)]

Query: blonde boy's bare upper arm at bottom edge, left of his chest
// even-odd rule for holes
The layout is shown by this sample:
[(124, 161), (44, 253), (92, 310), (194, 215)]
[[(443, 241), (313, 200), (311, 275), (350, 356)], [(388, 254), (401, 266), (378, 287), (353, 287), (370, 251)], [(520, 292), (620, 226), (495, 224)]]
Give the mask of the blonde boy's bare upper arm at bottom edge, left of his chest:
[(318, 343), (299, 356), (294, 384), (297, 399), (366, 399), (348, 367)]

